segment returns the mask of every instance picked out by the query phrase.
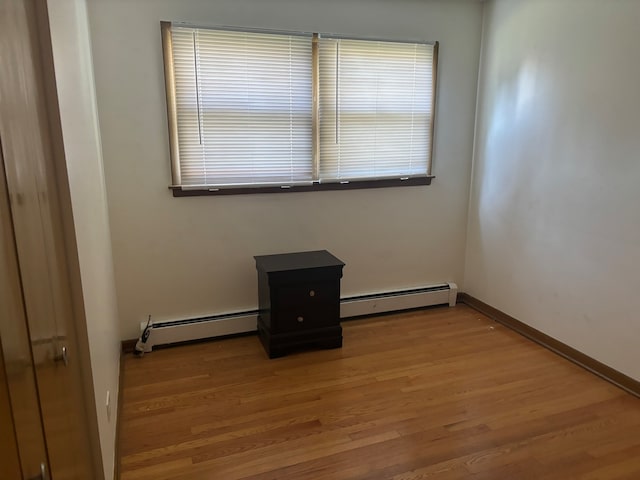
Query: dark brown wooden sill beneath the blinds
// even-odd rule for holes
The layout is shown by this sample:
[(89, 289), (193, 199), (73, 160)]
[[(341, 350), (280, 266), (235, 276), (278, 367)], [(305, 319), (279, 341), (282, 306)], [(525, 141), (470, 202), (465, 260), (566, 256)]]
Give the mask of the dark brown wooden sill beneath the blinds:
[(287, 193), (287, 192), (320, 192), (326, 190), (359, 190), (363, 188), (414, 187), (431, 185), (434, 176), (414, 177), (401, 180), (399, 178), (383, 180), (360, 180), (346, 183), (313, 183), (305, 185), (282, 185), (264, 187), (212, 187), (202, 189), (170, 186), (174, 197), (200, 197), (209, 195), (245, 195), (253, 193)]

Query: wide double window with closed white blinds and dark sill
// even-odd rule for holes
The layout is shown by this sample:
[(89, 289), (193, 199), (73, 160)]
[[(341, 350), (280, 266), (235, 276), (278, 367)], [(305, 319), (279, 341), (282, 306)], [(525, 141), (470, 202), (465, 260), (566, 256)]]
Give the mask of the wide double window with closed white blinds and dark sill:
[(430, 182), (437, 44), (162, 33), (174, 195)]

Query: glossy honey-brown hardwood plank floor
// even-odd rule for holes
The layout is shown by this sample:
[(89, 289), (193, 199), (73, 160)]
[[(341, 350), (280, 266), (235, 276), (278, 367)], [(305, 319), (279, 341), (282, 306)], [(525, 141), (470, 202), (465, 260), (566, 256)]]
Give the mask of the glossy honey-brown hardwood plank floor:
[(465, 306), (127, 357), (121, 478), (640, 479), (640, 399)]

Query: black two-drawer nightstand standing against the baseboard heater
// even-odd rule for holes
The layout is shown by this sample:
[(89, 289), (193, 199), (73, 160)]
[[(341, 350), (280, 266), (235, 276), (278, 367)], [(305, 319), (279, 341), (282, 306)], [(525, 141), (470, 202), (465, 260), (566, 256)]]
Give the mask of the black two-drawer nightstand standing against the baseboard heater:
[(342, 346), (340, 279), (344, 263), (326, 250), (261, 255), (258, 335), (269, 358), (302, 346)]

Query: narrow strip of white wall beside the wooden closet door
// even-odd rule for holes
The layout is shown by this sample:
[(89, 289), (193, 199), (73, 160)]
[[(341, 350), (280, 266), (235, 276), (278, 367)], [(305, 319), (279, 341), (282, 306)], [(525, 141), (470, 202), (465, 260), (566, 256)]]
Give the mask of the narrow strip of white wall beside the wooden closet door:
[[(51, 40), (105, 479), (113, 478), (120, 331), (85, 0), (50, 0)], [(105, 400), (111, 395), (111, 416)]]

